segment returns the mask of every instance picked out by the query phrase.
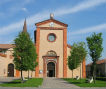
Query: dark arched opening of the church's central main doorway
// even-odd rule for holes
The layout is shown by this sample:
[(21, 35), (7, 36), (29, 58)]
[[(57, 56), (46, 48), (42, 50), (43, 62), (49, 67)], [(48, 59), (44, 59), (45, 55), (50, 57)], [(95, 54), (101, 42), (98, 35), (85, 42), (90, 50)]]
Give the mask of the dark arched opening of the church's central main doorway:
[(47, 64), (47, 77), (55, 77), (55, 63), (53, 62)]

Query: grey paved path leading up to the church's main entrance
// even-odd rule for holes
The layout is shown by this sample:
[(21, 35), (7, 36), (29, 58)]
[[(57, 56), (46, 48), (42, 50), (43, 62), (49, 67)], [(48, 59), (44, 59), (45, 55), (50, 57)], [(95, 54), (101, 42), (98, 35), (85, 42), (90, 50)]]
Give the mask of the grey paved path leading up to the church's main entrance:
[(62, 79), (44, 78), (43, 84), (39, 88), (79, 88), (73, 84), (68, 83)]

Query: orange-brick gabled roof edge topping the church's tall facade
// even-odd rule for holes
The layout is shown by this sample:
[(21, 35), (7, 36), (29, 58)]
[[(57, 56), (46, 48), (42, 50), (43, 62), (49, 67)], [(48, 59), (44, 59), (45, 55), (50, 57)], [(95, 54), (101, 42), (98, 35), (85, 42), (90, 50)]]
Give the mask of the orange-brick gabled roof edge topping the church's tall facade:
[(50, 19), (48, 19), (48, 20), (44, 20), (44, 21), (38, 22), (38, 23), (36, 23), (35, 25), (36, 25), (36, 26), (39, 26), (39, 25), (46, 24), (46, 23), (49, 23), (49, 22), (54, 22), (54, 23), (60, 24), (60, 25), (62, 25), (62, 26), (64, 26), (64, 27), (67, 27), (67, 26), (68, 26), (67, 24), (65, 24), (65, 23), (63, 23), (63, 22), (60, 22), (60, 21), (58, 21), (58, 20), (55, 20), (55, 19), (53, 19), (53, 18), (50, 18)]

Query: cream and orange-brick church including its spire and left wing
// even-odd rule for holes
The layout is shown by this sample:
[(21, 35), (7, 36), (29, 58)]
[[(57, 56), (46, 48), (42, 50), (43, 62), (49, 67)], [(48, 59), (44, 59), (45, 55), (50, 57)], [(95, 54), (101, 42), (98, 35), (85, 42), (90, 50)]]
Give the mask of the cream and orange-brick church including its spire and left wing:
[[(37, 52), (38, 66), (32, 77), (45, 78), (72, 78), (72, 71), (68, 68), (67, 58), (71, 51), (71, 46), (67, 44), (68, 25), (54, 19), (53, 14), (50, 19), (35, 24), (34, 43)], [(27, 31), (26, 21), (23, 31)], [(20, 77), (20, 71), (15, 69), (13, 63), (13, 45), (0, 44), (0, 76)], [(86, 77), (85, 60), (81, 63), (81, 77)], [(31, 71), (30, 71), (31, 74)], [(27, 77), (27, 71), (23, 73)], [(80, 67), (73, 71), (73, 76), (80, 76)]]

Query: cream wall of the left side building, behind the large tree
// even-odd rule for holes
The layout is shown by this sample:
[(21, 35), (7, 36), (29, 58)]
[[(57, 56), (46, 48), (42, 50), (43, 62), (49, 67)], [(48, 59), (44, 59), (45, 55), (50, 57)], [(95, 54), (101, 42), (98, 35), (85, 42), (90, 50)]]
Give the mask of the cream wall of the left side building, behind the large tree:
[[(7, 50), (7, 52), (5, 53), (7, 56), (6, 57), (1, 57), (0, 56), (0, 77), (8, 77), (8, 64), (13, 63), (13, 57), (12, 57), (12, 51), (13, 49), (10, 48)], [(31, 71), (30, 71), (30, 76), (31, 76)], [(23, 76), (27, 77), (28, 76), (28, 72), (23, 71)], [(16, 76), (16, 69), (15, 69), (15, 65), (14, 65), (14, 77), (20, 77), (20, 73), (18, 76)], [(32, 77), (35, 77), (35, 71), (33, 71), (32, 73)]]

